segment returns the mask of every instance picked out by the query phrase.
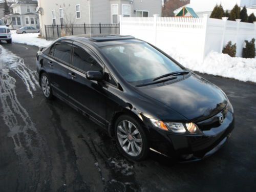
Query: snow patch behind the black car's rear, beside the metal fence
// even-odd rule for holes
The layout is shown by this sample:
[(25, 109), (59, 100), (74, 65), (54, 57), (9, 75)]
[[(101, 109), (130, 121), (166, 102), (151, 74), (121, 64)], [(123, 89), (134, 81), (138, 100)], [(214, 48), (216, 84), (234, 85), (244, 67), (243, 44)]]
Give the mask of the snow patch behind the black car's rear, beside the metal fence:
[(52, 41), (38, 38), (38, 35), (39, 33), (17, 34), (16, 31), (12, 31), (12, 42), (37, 47), (45, 47), (51, 44)]

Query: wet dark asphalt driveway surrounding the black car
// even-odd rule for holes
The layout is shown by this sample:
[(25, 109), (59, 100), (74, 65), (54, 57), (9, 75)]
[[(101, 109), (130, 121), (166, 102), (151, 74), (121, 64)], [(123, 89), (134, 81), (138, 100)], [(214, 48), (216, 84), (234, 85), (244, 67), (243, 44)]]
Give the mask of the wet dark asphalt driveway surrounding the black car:
[(106, 131), (36, 80), (38, 48), (0, 43), (0, 191), (255, 191), (256, 84), (200, 74), (229, 97), (236, 127), (215, 155), (132, 162)]

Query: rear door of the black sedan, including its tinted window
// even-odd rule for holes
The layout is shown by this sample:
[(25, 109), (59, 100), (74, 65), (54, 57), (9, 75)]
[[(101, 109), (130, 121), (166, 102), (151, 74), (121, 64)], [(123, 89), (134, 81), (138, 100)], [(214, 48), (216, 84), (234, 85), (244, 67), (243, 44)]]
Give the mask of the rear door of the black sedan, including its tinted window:
[(45, 64), (55, 95), (68, 98), (68, 68), (71, 61), (72, 44), (70, 41), (57, 41), (50, 49), (49, 58)]

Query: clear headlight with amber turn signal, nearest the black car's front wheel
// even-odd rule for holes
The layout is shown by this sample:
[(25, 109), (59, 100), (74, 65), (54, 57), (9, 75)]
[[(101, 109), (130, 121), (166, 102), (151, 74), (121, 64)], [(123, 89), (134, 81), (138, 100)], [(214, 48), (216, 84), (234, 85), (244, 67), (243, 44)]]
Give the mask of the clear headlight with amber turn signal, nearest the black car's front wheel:
[(163, 122), (156, 119), (150, 119), (152, 124), (164, 131), (172, 131), (174, 133), (201, 134), (200, 129), (195, 123), (177, 123)]

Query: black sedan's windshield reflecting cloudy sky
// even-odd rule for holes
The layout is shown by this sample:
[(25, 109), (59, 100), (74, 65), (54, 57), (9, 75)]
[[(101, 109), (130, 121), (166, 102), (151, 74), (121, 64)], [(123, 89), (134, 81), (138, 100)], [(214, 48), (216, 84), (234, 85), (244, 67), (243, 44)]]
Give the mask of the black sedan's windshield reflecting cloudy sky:
[(183, 70), (174, 61), (146, 43), (106, 46), (101, 49), (121, 76), (135, 85)]

